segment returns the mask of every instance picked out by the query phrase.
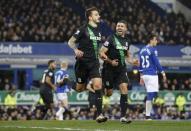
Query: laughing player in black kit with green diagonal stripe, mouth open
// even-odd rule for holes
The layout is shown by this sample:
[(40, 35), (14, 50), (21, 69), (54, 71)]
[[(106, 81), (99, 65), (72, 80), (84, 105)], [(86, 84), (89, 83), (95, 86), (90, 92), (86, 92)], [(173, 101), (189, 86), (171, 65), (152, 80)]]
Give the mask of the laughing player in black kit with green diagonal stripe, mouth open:
[[(126, 116), (128, 76), (125, 60), (131, 64), (138, 64), (138, 60), (132, 59), (129, 53), (130, 39), (126, 35), (127, 22), (117, 22), (116, 33), (109, 36), (100, 49), (100, 57), (104, 60), (102, 79), (106, 89), (106, 95), (112, 95), (112, 89), (116, 83), (121, 92), (120, 107), (122, 123), (130, 123)], [(115, 82), (115, 83), (114, 83)]]

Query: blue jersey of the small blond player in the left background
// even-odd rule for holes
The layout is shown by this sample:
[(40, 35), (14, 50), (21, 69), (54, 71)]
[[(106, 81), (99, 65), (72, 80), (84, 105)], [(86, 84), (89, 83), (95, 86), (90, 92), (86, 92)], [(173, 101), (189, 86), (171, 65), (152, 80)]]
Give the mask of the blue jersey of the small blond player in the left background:
[[(55, 82), (58, 83), (59, 81), (63, 80), (64, 78), (69, 79), (69, 74), (66, 70), (58, 70), (55, 73)], [(56, 93), (67, 93), (70, 91), (70, 88), (67, 84), (58, 85), (56, 89)]]

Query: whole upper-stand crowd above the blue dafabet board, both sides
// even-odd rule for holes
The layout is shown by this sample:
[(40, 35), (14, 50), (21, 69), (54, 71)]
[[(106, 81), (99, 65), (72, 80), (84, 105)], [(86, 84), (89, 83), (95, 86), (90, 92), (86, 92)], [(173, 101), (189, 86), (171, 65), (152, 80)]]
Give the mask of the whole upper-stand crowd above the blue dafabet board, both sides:
[[(2, 0), (0, 2), (1, 41), (67, 41), (83, 18), (61, 0)], [(191, 26), (183, 14), (160, 16), (147, 0), (75, 0), (81, 8), (96, 6), (102, 19), (114, 30), (116, 20), (128, 21), (135, 43), (145, 43), (149, 32), (158, 34), (166, 44), (190, 45)]]

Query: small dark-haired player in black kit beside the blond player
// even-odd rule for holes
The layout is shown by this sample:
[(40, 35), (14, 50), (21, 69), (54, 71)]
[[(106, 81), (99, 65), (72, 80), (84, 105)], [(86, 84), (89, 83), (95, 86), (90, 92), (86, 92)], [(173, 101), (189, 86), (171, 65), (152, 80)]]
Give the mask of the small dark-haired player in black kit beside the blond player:
[[(42, 77), (42, 87), (40, 88), (40, 96), (45, 104), (45, 112), (48, 110), (52, 112), (54, 108), (53, 104), (53, 93), (52, 90), (56, 90), (56, 85), (54, 85), (54, 70), (56, 68), (55, 60), (48, 61), (48, 69), (44, 71)], [(46, 114), (45, 114), (46, 117)], [(44, 117), (44, 119), (46, 119)]]

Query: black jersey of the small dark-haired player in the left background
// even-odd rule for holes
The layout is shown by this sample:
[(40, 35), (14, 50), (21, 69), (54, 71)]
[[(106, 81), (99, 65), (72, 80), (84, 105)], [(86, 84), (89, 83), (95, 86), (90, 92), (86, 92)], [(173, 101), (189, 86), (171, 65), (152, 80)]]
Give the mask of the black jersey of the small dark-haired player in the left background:
[(50, 77), (51, 82), (54, 84), (54, 71), (51, 69), (47, 69), (44, 71), (44, 74), (42, 76), (42, 84), (46, 87), (52, 88), (48, 83), (46, 83), (46, 77)]

